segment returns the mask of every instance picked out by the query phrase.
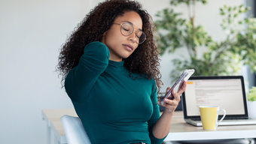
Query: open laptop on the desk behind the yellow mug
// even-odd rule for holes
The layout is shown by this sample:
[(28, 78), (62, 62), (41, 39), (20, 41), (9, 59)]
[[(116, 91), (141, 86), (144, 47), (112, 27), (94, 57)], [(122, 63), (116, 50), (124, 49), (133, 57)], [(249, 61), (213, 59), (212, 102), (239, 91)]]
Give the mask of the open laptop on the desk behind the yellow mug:
[[(256, 118), (248, 117), (242, 76), (190, 77), (181, 99), (184, 121), (194, 126), (202, 126), (200, 106), (219, 106), (226, 110), (219, 125), (256, 124)], [(220, 111), (218, 119), (222, 115)]]

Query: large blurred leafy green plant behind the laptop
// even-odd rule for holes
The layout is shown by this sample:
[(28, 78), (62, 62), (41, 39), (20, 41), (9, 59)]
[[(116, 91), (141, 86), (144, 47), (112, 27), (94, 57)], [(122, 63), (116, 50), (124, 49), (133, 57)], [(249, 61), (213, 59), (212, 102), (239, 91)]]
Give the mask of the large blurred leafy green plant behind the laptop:
[[(240, 14), (246, 13), (249, 7), (239, 5), (220, 8), (223, 17), (221, 28), (227, 32), (225, 40), (213, 40), (203, 26), (196, 26), (196, 3), (207, 4), (207, 0), (171, 0), (170, 5), (186, 4), (189, 13), (187, 19), (180, 17), (182, 13), (175, 13), (174, 9), (166, 8), (158, 11), (155, 21), (157, 44), (161, 54), (175, 52), (185, 47), (189, 56), (181, 55), (172, 60), (172, 80), (177, 80), (184, 69), (194, 68), (194, 76), (237, 75), (242, 65), (248, 65), (256, 72), (256, 19), (248, 17), (242, 19)], [(192, 10), (192, 12), (190, 12)], [(216, 23), (218, 25), (218, 23)], [(203, 56), (198, 56), (199, 47), (207, 49)]]

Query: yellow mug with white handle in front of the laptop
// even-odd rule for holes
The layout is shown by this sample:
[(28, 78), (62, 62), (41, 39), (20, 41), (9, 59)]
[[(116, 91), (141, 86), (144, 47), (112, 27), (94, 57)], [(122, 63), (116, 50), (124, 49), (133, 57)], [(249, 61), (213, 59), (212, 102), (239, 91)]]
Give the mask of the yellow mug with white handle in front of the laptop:
[(220, 124), (226, 116), (226, 110), (221, 109), (224, 112), (224, 115), (221, 120), (218, 121), (220, 107), (199, 107), (199, 109), (204, 130), (215, 130), (216, 127), (218, 127), (218, 124)]

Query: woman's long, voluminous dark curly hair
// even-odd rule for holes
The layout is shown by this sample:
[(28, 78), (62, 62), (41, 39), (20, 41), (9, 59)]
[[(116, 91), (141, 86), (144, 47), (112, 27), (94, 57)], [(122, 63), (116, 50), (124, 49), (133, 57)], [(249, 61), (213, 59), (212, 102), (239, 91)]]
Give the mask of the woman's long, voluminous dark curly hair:
[(142, 31), (147, 35), (147, 40), (139, 44), (133, 54), (124, 59), (123, 66), (130, 71), (130, 77), (132, 77), (132, 73), (139, 73), (145, 75), (149, 80), (154, 78), (158, 88), (157, 94), (159, 94), (163, 83), (160, 80), (161, 74), (158, 69), (160, 65), (159, 52), (154, 43), (154, 22), (148, 12), (142, 10), (142, 5), (138, 1), (130, 0), (103, 1), (93, 10), (90, 10), (90, 13), (78, 24), (78, 27), (75, 28), (60, 50), (57, 71), (62, 76), (62, 87), (66, 75), (78, 65), (84, 52), (84, 46), (93, 41), (101, 40), (102, 34), (108, 31), (114, 20), (128, 11), (139, 13), (142, 18)]

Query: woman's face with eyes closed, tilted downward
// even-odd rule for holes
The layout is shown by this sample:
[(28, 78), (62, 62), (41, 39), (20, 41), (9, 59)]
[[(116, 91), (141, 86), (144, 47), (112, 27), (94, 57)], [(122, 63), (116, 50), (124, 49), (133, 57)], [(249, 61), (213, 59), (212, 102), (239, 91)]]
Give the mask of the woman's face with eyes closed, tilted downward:
[[(125, 36), (121, 33), (119, 24), (130, 23), (133, 26), (133, 33)], [(136, 32), (142, 30), (142, 18), (135, 11), (123, 13), (123, 16), (114, 20), (111, 28), (105, 31), (101, 42), (108, 46), (109, 60), (121, 62), (123, 58), (128, 58), (138, 47)], [(137, 40), (137, 42), (136, 42)]]

